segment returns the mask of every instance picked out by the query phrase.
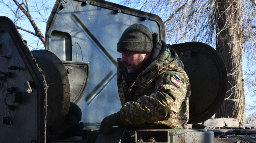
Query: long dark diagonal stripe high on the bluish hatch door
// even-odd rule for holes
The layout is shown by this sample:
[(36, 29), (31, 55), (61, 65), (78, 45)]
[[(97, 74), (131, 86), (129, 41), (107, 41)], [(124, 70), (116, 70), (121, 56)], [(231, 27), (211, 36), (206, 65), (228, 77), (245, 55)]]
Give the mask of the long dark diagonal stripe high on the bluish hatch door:
[(74, 14), (72, 13), (72, 16), (77, 20), (79, 25), (85, 30), (85, 32), (92, 38), (92, 40), (99, 46), (99, 48), (102, 50), (102, 52), (109, 58), (111, 62), (117, 67), (117, 61), (114, 60), (114, 58), (107, 52), (107, 50), (100, 44), (100, 42), (93, 36), (93, 34), (88, 30), (88, 28), (84, 25), (84, 23)]

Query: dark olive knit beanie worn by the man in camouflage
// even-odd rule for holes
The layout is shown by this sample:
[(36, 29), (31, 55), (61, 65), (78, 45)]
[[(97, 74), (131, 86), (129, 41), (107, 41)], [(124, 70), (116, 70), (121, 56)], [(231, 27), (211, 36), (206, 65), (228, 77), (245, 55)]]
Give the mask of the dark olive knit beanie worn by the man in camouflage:
[(151, 52), (158, 42), (158, 33), (153, 34), (145, 25), (135, 23), (124, 30), (117, 43), (117, 51), (147, 53)]

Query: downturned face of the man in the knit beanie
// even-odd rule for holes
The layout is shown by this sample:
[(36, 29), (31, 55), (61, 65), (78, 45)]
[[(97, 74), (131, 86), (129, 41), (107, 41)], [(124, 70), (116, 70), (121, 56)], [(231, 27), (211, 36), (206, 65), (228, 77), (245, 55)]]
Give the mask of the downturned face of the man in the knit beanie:
[(149, 58), (150, 53), (139, 53), (130, 51), (120, 51), (122, 54), (121, 62), (127, 67), (128, 73), (136, 73)]

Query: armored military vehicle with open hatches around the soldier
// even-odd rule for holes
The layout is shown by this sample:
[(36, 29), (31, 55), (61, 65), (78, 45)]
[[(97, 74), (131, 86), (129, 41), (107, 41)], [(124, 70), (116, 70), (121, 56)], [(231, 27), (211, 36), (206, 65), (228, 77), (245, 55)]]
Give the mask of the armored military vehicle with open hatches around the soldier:
[[(36, 51), (28, 49), (9, 18), (0, 19), (1, 142), (214, 142), (213, 131), (202, 122), (224, 100), (227, 71), (218, 52), (200, 42), (169, 45), (191, 82), (191, 129), (97, 131), (104, 117), (121, 108), (116, 43), (134, 23), (165, 41), (159, 16), (102, 0), (57, 0), (46, 25), (46, 50)], [(82, 140), (53, 140), (51, 133), (64, 122), (70, 101), (82, 110)]]

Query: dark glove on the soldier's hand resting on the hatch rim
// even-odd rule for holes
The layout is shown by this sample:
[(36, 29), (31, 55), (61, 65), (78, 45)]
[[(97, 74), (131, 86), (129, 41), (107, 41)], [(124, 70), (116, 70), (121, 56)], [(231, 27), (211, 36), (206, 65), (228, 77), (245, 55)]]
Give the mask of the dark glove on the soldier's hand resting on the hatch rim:
[(118, 111), (117, 113), (111, 114), (102, 120), (99, 128), (99, 133), (106, 135), (110, 128), (122, 124), (123, 123)]

